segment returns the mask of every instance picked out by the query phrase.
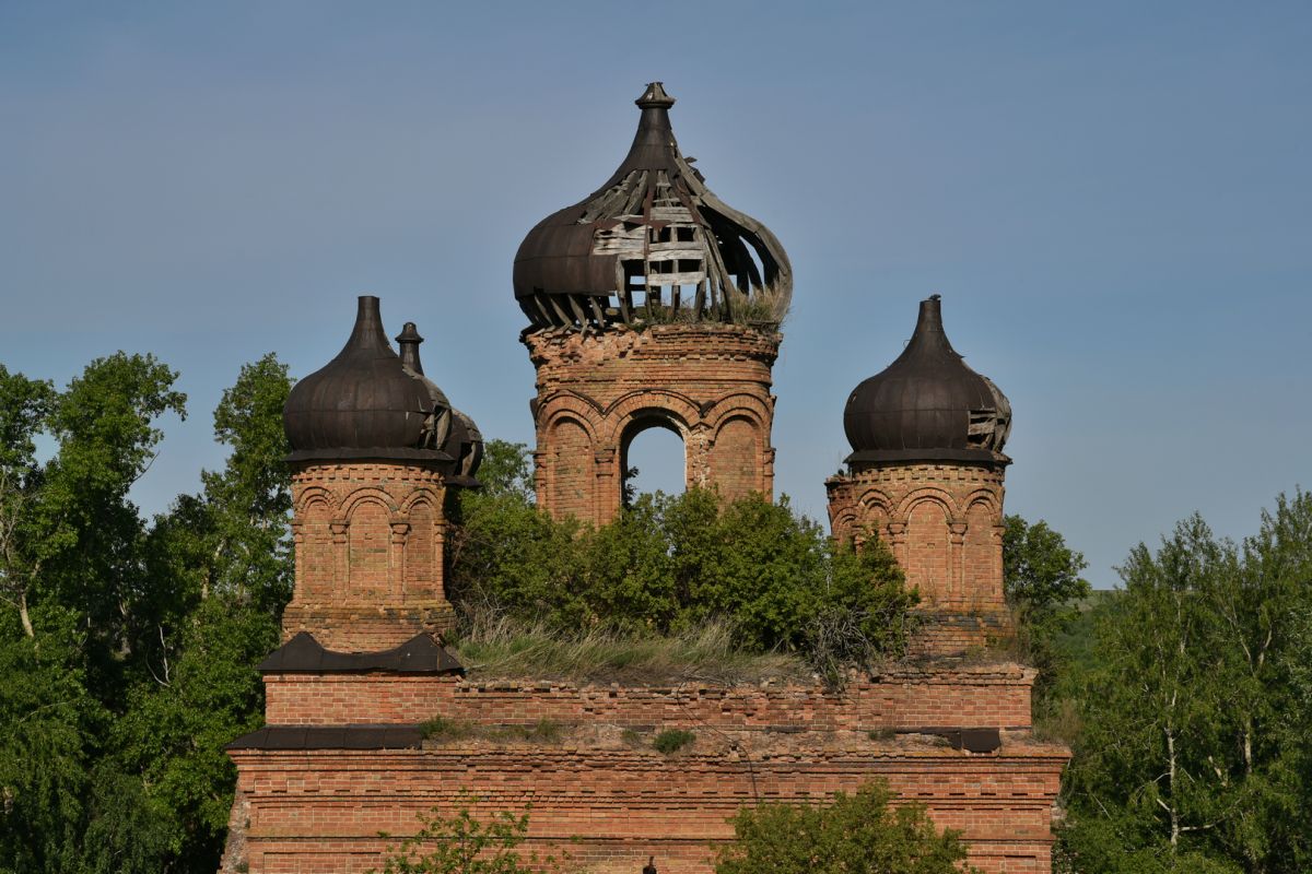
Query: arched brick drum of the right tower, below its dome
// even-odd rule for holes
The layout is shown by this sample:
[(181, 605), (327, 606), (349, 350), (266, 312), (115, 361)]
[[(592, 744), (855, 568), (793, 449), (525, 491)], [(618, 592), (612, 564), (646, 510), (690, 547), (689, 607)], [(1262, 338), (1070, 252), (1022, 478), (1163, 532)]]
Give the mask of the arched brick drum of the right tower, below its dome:
[(834, 537), (878, 536), (920, 591), (913, 650), (959, 653), (1008, 633), (1002, 476), (1001, 464), (890, 461), (825, 481)]

